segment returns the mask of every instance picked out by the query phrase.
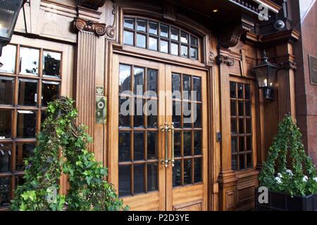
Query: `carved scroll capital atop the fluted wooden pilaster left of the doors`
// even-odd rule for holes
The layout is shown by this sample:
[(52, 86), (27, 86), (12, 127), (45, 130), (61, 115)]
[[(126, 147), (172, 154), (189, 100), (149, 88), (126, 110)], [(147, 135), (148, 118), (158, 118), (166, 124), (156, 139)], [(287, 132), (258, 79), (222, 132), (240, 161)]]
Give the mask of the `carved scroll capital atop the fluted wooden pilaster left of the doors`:
[(78, 31), (93, 32), (97, 36), (104, 36), (107, 30), (105, 23), (96, 23), (82, 18), (75, 18), (74, 27)]

